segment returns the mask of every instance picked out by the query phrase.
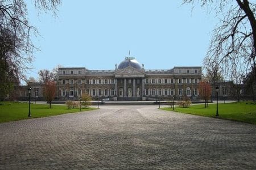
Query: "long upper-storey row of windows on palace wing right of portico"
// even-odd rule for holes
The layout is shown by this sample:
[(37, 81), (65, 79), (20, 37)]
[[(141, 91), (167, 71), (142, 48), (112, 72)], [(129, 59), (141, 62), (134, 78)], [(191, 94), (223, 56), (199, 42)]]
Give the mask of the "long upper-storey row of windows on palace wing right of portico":
[[(174, 84), (175, 83), (175, 79), (146, 79), (146, 84)], [(199, 83), (199, 79), (195, 78), (195, 79), (177, 79), (177, 83), (181, 84), (181, 83)]]

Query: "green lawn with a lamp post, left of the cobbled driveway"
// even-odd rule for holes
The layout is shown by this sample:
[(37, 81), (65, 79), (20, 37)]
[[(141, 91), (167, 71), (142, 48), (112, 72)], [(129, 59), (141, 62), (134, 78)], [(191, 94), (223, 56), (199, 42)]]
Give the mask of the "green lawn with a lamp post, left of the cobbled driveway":
[[(49, 109), (47, 104), (31, 104), (31, 117), (28, 117), (28, 103), (0, 102), (0, 122), (23, 120), (54, 116), (64, 113), (80, 112), (80, 108), (68, 109), (66, 105), (52, 105)], [(97, 108), (82, 108), (82, 111), (92, 111)]]

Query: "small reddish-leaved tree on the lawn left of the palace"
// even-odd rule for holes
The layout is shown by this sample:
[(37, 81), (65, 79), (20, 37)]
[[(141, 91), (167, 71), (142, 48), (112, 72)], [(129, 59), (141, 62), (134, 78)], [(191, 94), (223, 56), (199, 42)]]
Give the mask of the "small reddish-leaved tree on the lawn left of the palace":
[(56, 94), (56, 82), (47, 81), (43, 86), (43, 94), (46, 97), (46, 101), (49, 102), (49, 108), (51, 108), (52, 100)]

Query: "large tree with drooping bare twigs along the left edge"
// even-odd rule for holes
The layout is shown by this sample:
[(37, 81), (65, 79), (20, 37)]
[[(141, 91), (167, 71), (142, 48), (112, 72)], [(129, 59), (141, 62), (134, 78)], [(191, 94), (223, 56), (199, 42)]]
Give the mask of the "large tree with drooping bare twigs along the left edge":
[[(38, 11), (53, 11), (61, 0), (34, 0)], [(37, 49), (31, 41), (32, 35), (38, 35), (36, 28), (28, 22), (27, 5), (24, 0), (0, 0), (0, 94), (5, 96), (14, 86), (25, 78), (31, 69), (33, 52)], [(15, 81), (14, 81), (15, 79)]]

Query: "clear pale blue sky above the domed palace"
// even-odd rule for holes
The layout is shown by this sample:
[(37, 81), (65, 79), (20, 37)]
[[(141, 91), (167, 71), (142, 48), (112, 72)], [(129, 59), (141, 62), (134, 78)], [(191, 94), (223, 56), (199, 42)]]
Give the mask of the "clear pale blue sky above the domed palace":
[(34, 39), (34, 69), (57, 65), (114, 69), (131, 51), (144, 69), (201, 66), (217, 21), (200, 6), (191, 11), (181, 1), (68, 1), (57, 12), (37, 15), (28, 4), (30, 24), (42, 37)]

